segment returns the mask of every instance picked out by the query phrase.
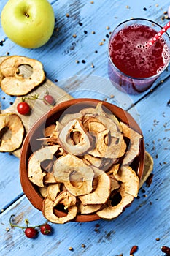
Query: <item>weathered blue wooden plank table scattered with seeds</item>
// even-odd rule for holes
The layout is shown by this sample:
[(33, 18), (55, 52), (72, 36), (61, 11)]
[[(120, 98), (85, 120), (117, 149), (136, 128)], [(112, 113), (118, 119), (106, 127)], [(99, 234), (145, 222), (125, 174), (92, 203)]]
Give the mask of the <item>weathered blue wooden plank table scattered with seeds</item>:
[[(6, 2), (1, 1), (0, 12)], [(0, 25), (0, 55), (38, 59), (47, 78), (72, 97), (107, 100), (128, 110), (139, 123), (146, 149), (154, 159), (154, 176), (150, 187), (144, 184), (139, 197), (117, 219), (52, 224), (51, 236), (28, 239), (22, 230), (10, 227), (9, 217), (15, 214), (18, 225), (23, 225), (26, 218), (31, 225), (39, 225), (45, 219), (23, 194), (20, 160), (12, 154), (0, 153), (0, 255), (126, 256), (134, 245), (138, 246), (134, 255), (164, 255), (161, 246), (170, 246), (170, 73), (163, 72), (152, 89), (142, 94), (115, 93), (107, 75), (107, 42), (109, 32), (129, 18), (149, 18), (165, 25), (170, 3), (168, 0), (50, 0), (50, 3), (56, 19), (50, 41), (42, 48), (21, 48), (6, 37)], [(82, 83), (69, 83), (77, 79)], [(83, 83), (84, 80), (88, 83)], [(1, 108), (8, 108), (13, 101), (14, 97), (0, 91)]]

